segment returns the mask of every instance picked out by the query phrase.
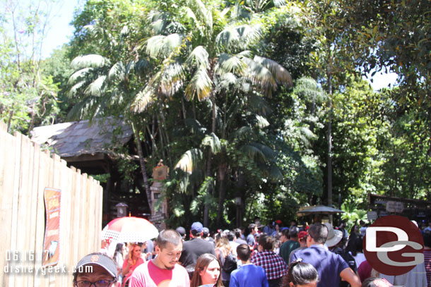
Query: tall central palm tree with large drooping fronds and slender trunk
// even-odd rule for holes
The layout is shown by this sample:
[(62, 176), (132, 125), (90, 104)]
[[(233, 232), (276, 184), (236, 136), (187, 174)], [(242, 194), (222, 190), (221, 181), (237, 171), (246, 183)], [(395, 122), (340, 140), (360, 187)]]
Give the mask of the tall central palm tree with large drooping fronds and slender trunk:
[[(254, 55), (249, 50), (261, 37), (259, 25), (237, 22), (230, 18), (232, 11), (221, 11), (215, 1), (188, 0), (185, 8), (185, 32), (154, 35), (143, 41), (143, 49), (152, 59), (160, 61), (158, 69), (134, 99), (134, 111), (144, 111), (160, 97), (172, 97), (184, 88), (187, 100), (208, 101), (211, 106), (211, 128), (208, 136), (213, 145), (224, 140), (220, 119), (219, 102), (228, 102), (232, 96), (229, 88), (236, 87), (243, 97), (247, 92), (270, 96), (278, 85), (290, 85), (290, 74), (281, 65)], [(228, 89), (226, 89), (228, 87)], [(249, 91), (247, 91), (249, 90)], [(229, 99), (232, 100), (232, 99)], [(208, 148), (206, 176), (213, 177), (213, 156)], [(221, 147), (219, 157), (224, 151)], [(218, 161), (220, 186), (225, 179), (225, 166)], [(223, 204), (223, 188), (219, 194), (219, 216)], [(204, 225), (208, 224), (208, 205), (204, 211)], [(220, 224), (220, 222), (218, 222)]]

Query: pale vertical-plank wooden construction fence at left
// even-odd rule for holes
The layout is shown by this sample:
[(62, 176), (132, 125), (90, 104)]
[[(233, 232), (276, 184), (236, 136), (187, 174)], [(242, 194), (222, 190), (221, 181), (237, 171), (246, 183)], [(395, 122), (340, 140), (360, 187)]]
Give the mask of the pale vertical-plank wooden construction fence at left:
[[(41, 269), (45, 188), (61, 190), (60, 251), (54, 268)], [(102, 194), (98, 181), (0, 121), (0, 286), (72, 286), (78, 260), (100, 250)]]

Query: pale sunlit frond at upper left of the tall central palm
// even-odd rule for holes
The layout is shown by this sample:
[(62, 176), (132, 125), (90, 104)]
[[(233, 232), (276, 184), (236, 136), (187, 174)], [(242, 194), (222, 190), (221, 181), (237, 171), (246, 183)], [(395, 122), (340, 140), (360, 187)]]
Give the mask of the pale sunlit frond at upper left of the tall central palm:
[(182, 44), (182, 35), (177, 33), (167, 36), (156, 35), (146, 40), (146, 53), (151, 58), (166, 58)]

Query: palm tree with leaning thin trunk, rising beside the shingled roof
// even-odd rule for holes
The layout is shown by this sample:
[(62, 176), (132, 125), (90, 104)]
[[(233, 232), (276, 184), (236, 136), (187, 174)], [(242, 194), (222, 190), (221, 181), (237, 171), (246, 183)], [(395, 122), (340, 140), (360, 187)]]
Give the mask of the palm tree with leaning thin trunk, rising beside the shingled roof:
[(139, 125), (134, 114), (129, 112), (129, 105), (135, 94), (129, 85), (129, 78), (132, 73), (143, 73), (146, 66), (145, 60), (130, 60), (128, 63), (118, 61), (112, 65), (110, 59), (98, 54), (76, 57), (71, 62), (71, 68), (75, 72), (69, 78), (69, 85), (72, 85), (69, 97), (78, 99), (78, 102), (69, 111), (68, 118), (88, 118), (91, 121), (100, 116), (116, 115), (124, 116), (131, 123), (147, 200), (151, 206)]

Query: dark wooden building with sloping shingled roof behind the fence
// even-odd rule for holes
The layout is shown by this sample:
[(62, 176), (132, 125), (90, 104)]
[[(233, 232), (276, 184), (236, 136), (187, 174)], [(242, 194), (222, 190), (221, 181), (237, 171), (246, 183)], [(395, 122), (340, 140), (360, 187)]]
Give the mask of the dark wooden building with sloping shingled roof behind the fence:
[(140, 170), (133, 171), (132, 181), (119, 171), (121, 160), (136, 161), (138, 156), (131, 126), (114, 118), (92, 122), (74, 121), (40, 126), (32, 131), (32, 140), (59, 154), (68, 166), (81, 173), (100, 176), (104, 188), (103, 224), (117, 217), (115, 205), (125, 202), (133, 216), (148, 217), (150, 208)]

